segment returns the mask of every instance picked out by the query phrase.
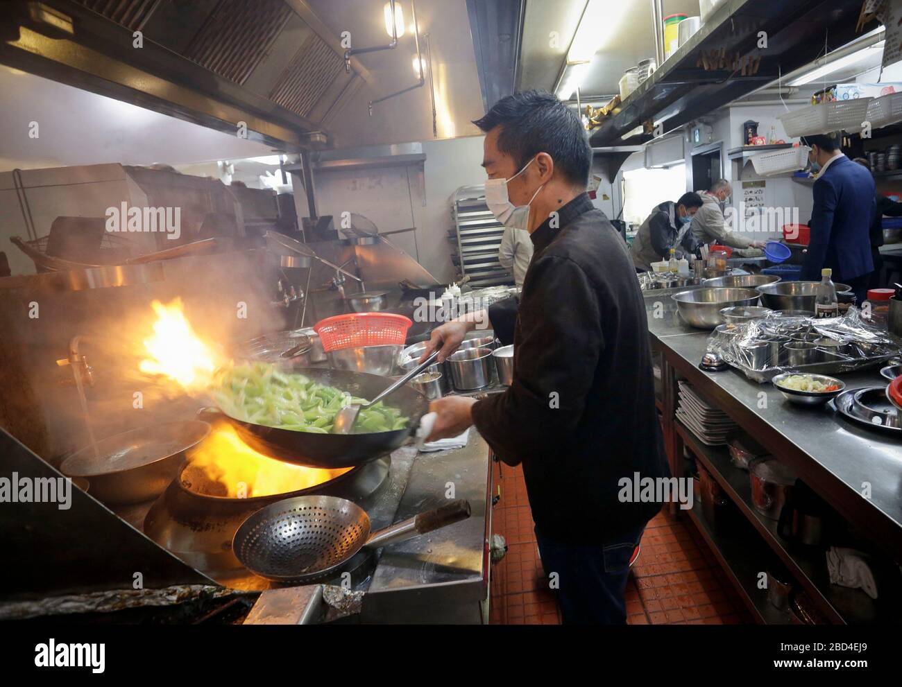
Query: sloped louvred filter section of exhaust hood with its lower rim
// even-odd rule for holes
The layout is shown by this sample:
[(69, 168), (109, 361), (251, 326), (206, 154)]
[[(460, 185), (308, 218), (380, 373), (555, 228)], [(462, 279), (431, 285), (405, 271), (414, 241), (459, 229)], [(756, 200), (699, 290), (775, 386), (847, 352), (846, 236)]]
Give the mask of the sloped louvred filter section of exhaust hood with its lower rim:
[(303, 2), (17, 2), (0, 23), (11, 67), (286, 150), (322, 142), (368, 76), (358, 60), (345, 72), (337, 33)]

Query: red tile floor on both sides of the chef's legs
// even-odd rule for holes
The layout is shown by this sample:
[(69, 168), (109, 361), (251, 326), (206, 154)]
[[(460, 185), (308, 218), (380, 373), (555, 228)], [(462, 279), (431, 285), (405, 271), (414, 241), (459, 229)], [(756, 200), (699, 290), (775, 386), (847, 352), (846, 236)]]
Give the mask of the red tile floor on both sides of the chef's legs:
[[(507, 540), (508, 554), (492, 566), (489, 621), (557, 625), (560, 612), (538, 559), (523, 472), (501, 463), (499, 481), (498, 465), (492, 469), (501, 499), (492, 511), (492, 532)], [(630, 625), (754, 623), (692, 523), (663, 511), (642, 536), (626, 600)]]

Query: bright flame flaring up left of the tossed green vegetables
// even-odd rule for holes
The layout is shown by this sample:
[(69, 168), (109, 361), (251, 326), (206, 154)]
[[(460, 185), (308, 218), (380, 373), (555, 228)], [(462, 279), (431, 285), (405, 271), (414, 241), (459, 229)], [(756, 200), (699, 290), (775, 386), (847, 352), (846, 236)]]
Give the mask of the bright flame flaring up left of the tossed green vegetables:
[(169, 305), (151, 304), (157, 319), (153, 334), (144, 339), (145, 357), (138, 369), (176, 381), (186, 390), (206, 389), (213, 372), (222, 363), (214, 348), (204, 342), (185, 317), (181, 298)]

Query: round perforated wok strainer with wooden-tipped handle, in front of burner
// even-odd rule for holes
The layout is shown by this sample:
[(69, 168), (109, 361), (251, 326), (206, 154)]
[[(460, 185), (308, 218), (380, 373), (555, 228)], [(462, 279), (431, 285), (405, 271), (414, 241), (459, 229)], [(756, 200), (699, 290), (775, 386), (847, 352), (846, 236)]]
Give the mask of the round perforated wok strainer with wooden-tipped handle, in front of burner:
[(337, 574), (362, 548), (378, 548), (470, 517), (465, 499), (370, 533), (370, 518), (353, 501), (298, 496), (277, 501), (244, 520), (235, 532), (235, 556), (274, 582), (310, 582)]

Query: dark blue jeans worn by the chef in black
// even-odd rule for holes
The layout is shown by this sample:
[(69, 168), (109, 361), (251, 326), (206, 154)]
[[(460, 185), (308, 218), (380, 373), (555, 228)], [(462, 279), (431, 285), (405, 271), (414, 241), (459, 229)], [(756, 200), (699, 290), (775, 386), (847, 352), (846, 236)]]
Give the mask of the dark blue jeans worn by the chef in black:
[(546, 577), (557, 573), (557, 604), (568, 625), (626, 623), (630, 557), (645, 525), (604, 545), (558, 544), (536, 528), (538, 555)]

